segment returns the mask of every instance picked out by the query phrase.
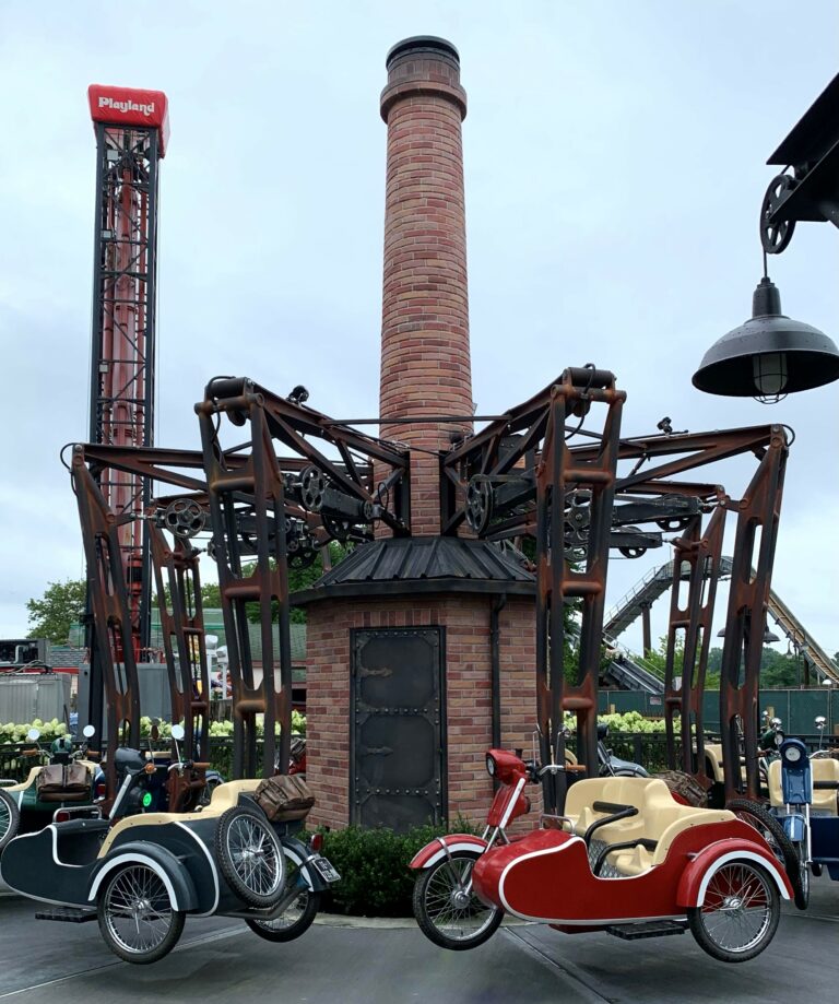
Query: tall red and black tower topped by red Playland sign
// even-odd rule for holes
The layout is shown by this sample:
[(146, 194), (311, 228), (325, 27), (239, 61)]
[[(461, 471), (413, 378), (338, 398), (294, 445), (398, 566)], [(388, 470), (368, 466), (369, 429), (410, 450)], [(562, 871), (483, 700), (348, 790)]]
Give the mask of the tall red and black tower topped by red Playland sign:
[[(168, 141), (161, 91), (87, 90), (96, 133), (96, 233), (91, 351), (91, 442), (150, 447), (154, 440), (157, 190)], [(99, 486), (120, 521), (134, 655), (149, 645), (151, 572), (140, 517), (149, 486), (108, 469)]]

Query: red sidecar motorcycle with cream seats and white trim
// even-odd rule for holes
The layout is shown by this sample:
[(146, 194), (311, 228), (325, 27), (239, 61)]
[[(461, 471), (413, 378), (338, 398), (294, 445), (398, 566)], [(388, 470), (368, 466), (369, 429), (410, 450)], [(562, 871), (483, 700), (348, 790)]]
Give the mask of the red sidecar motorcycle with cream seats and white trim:
[(565, 814), (530, 834), (506, 827), (528, 812), (539, 768), (500, 749), (486, 756), (501, 782), (482, 837), (440, 837), (414, 858), (414, 912), (448, 948), (472, 948), (504, 913), (578, 934), (634, 940), (690, 930), (713, 958), (740, 962), (775, 936), (792, 886), (769, 844), (724, 810), (677, 803), (655, 778), (606, 777), (568, 788)]

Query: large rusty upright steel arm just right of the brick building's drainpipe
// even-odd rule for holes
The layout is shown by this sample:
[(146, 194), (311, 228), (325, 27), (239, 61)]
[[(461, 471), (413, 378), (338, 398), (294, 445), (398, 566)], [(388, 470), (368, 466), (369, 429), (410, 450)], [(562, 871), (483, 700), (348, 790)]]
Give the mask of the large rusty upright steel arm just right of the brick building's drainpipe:
[[(543, 764), (563, 764), (564, 712), (577, 716), (577, 753), (590, 777), (598, 773), (598, 674), (608, 566), (608, 533), (615, 493), (621, 411), (626, 395), (612, 374), (569, 369), (551, 391), (545, 441), (536, 468), (536, 714)], [(578, 460), (565, 440), (565, 423), (605, 405), (601, 450)], [(584, 568), (574, 571), (565, 559), (565, 499), (569, 489), (591, 492), (590, 532)], [(565, 603), (581, 602), (576, 681), (565, 677)], [(546, 773), (544, 804), (562, 811), (566, 773)]]

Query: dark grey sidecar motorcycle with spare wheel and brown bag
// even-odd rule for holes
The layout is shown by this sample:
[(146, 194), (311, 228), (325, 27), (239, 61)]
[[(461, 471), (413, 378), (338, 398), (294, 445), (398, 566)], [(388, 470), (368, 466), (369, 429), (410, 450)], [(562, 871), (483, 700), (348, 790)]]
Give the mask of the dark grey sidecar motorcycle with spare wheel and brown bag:
[[(218, 784), (209, 805), (196, 799), (192, 811), (169, 812), (167, 775), (186, 775), (188, 789), (194, 765), (167, 767), (119, 748), (116, 766), (121, 783), (108, 818), (51, 823), (7, 846), (0, 876), (50, 905), (37, 918), (97, 920), (108, 947), (140, 964), (172, 950), (187, 916), (238, 917), (269, 941), (308, 929), (340, 876), (289, 832), (293, 823), (269, 820), (255, 798), (258, 780)], [(203, 786), (197, 771), (199, 794)]]

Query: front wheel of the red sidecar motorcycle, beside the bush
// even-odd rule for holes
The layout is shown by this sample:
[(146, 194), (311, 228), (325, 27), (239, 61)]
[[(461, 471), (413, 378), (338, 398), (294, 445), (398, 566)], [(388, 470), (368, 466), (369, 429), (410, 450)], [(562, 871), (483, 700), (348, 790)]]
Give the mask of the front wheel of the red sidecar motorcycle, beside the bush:
[[(495, 934), (504, 918), (499, 907), (487, 907), (471, 893), (461, 905), (454, 896), (472, 875), (480, 854), (454, 851), (420, 873), (414, 885), (413, 908), (420, 930), (439, 945), (460, 952), (475, 948)], [(464, 895), (464, 894), (461, 894)]]

